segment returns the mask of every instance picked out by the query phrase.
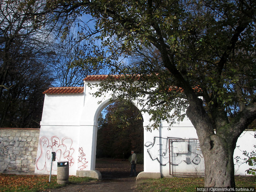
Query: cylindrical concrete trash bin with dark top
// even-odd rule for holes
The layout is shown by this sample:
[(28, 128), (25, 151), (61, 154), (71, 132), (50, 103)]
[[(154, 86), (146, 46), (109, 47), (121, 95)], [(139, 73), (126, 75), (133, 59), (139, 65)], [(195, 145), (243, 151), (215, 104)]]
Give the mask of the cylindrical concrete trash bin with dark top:
[(69, 162), (57, 162), (57, 184), (66, 184), (69, 181)]

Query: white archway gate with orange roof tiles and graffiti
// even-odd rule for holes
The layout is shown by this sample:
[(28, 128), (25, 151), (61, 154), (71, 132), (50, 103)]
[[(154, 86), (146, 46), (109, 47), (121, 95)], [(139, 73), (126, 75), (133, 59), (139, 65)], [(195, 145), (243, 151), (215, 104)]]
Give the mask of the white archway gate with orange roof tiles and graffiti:
[[(95, 170), (97, 121), (101, 111), (110, 104), (111, 94), (106, 93), (100, 98), (95, 98), (91, 93), (96, 92), (97, 88), (90, 89), (87, 84), (88, 82), (99, 83), (106, 77), (107, 75), (87, 76), (84, 79), (84, 87), (49, 88), (44, 92), (35, 174), (49, 174), (51, 152), (56, 152), (52, 174), (57, 174), (57, 161), (69, 161), (70, 175), (101, 179), (101, 174)], [(98, 101), (102, 102), (98, 104)], [(136, 107), (141, 109), (141, 106)], [(143, 113), (142, 116), (143, 127), (150, 125), (150, 115)], [(240, 137), (238, 141), (240, 149), (252, 151), (253, 144), (255, 144), (253, 136), (254, 133), (249, 131), (243, 133), (243, 137)], [(144, 172), (141, 172), (137, 179), (170, 176), (172, 173), (170, 170), (172, 166), (169, 164), (170, 139), (197, 139), (196, 131), (189, 119), (177, 122), (172, 127), (163, 122), (159, 130), (152, 130), (152, 132), (144, 128)], [(248, 146), (251, 147), (248, 148)], [(174, 154), (174, 156), (179, 156), (181, 164), (184, 162), (187, 164), (186, 168), (192, 163), (188, 160), (190, 155), (194, 154), (186, 154), (184, 150), (177, 150)], [(234, 156), (238, 155), (242, 156), (242, 152), (236, 149)], [(193, 166), (201, 167), (202, 165), (199, 162), (194, 163)], [(243, 164), (240, 167), (235, 166), (235, 169), (236, 174), (244, 175), (248, 167)], [(181, 169), (182, 171), (186, 172)]]

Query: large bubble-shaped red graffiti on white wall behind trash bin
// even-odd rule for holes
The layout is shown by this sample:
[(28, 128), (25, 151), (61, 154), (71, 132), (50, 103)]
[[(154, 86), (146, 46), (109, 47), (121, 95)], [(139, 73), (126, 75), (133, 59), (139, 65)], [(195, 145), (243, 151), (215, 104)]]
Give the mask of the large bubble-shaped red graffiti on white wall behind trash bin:
[(38, 153), (40, 156), (36, 160), (36, 168), (38, 170), (46, 170), (50, 172), (51, 169), (51, 152), (56, 152), (56, 161), (53, 162), (53, 169), (56, 166), (58, 161), (69, 161), (69, 167), (74, 164), (74, 148), (72, 147), (72, 139), (64, 137), (60, 140), (57, 136), (51, 137), (50, 141), (47, 137), (42, 137), (39, 141), (40, 148), (38, 149)]

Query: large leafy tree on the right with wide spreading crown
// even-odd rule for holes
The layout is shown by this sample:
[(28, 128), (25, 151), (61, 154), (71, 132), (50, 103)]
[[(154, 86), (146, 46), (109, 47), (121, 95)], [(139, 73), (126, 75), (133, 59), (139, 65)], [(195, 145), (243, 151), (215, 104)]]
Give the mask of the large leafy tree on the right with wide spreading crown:
[[(142, 113), (151, 115), (149, 130), (162, 121), (178, 123), (187, 115), (200, 143), (214, 144), (201, 146), (205, 162), (232, 161), (237, 138), (256, 117), (256, 1), (61, 3), (49, 6), (57, 7), (53, 13), (64, 9), (65, 14), (75, 10), (92, 15), (95, 30), (88, 30), (86, 37), (101, 41), (101, 51), (88, 63), (108, 66), (110, 74), (118, 75), (90, 84), (99, 88), (94, 96), (109, 92), (112, 101), (136, 100)], [(229, 160), (211, 151), (227, 145)], [(226, 168), (205, 167), (230, 171), (230, 178), (220, 176), (219, 185), (233, 180), (234, 169)]]

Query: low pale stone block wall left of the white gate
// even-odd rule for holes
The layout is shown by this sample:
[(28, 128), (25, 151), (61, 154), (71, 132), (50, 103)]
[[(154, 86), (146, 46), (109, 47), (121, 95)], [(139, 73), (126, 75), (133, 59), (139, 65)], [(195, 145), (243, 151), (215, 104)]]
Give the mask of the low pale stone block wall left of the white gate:
[(0, 128), (0, 172), (34, 174), (40, 129)]

